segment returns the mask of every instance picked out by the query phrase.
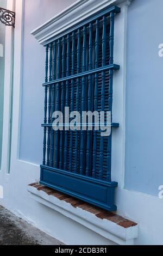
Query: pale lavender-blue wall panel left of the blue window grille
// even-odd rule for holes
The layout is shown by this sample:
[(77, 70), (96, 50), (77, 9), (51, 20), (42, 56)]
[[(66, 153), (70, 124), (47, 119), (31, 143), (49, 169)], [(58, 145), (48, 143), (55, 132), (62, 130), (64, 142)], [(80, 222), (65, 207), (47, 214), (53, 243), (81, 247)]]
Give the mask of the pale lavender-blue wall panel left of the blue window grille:
[(24, 7), (20, 159), (42, 163), (45, 48), (30, 32), (75, 0), (26, 0)]

